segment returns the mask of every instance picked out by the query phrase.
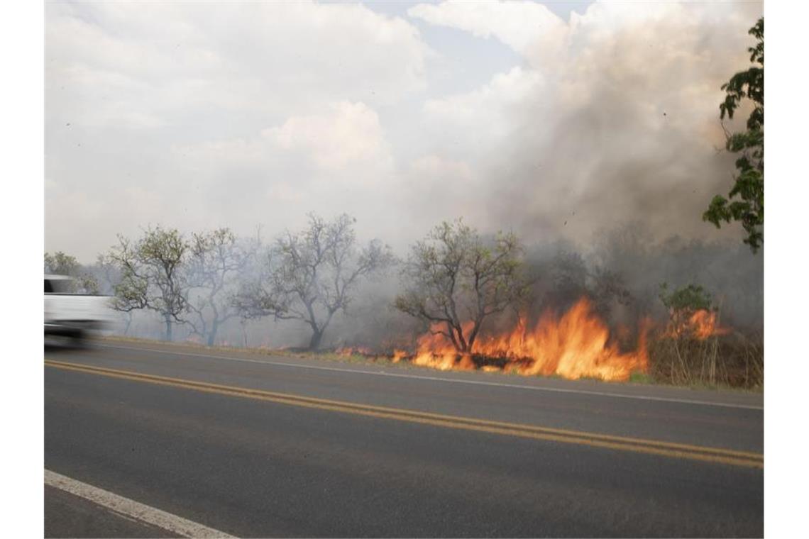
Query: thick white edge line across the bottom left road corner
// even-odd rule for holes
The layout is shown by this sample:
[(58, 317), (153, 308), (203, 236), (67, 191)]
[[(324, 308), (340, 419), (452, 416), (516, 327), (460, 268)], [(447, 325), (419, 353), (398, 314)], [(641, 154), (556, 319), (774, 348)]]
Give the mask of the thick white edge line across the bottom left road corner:
[(172, 513), (136, 502), (133, 499), (112, 494), (112, 492), (104, 491), (104, 489), (97, 486), (88, 485), (57, 474), (51, 470), (45, 470), (45, 485), (53, 486), (53, 488), (60, 491), (69, 492), (72, 495), (90, 500), (92, 503), (107, 507), (121, 515), (176, 533), (180, 537), (235, 537), (217, 529), (197, 524), (193, 520), (184, 519), (181, 516), (172, 515)]

